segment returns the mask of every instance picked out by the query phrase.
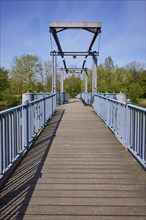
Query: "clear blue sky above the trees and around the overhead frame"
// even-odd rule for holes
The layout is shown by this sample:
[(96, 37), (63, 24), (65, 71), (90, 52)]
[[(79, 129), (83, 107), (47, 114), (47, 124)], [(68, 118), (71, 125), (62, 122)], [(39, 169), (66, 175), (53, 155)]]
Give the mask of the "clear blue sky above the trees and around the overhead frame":
[[(146, 0), (1, 0), (0, 64), (11, 68), (13, 59), (23, 54), (51, 60), (55, 49), (49, 33), (49, 21), (101, 22), (98, 63), (111, 56), (115, 64), (146, 62)], [(63, 50), (86, 51), (91, 34), (64, 31), (59, 35)], [(53, 41), (53, 39), (52, 39)], [(93, 50), (98, 50), (97, 38)], [(58, 60), (62, 67), (62, 61)], [(79, 60), (67, 60), (68, 66), (81, 67)], [(87, 66), (91, 68), (91, 58)]]

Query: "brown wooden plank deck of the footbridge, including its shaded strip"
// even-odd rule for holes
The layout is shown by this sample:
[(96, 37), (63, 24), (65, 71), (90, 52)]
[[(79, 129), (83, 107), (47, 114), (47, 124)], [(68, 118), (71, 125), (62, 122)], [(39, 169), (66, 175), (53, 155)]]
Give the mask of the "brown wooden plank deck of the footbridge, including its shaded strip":
[(146, 175), (91, 107), (60, 106), (1, 191), (0, 219), (146, 220)]

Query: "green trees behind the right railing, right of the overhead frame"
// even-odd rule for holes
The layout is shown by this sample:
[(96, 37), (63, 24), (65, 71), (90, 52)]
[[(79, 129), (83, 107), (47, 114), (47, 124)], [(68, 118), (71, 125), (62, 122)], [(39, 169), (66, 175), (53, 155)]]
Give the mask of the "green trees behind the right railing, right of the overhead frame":
[(129, 63), (125, 68), (113, 65), (110, 57), (97, 68), (97, 88), (99, 92), (123, 92), (132, 102), (146, 97), (146, 70), (140, 62)]

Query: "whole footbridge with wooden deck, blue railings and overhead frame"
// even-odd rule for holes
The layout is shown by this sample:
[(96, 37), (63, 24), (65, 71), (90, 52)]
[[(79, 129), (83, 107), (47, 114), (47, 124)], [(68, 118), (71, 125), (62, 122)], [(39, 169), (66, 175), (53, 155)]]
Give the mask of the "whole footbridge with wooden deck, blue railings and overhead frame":
[(96, 93), (96, 74), (93, 93), (86, 80), (58, 105), (57, 53), (52, 94), (0, 112), (1, 219), (144, 220), (146, 109)]

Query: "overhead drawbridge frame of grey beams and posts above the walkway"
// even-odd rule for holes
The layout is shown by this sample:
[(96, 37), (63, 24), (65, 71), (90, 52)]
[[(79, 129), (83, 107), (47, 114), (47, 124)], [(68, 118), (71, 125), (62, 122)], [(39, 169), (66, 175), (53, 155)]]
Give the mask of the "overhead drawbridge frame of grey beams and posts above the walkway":
[[(73, 58), (76, 58), (77, 56), (84, 56), (84, 61), (82, 64), (82, 68), (77, 68), (78, 71), (81, 73), (85, 72), (85, 92), (88, 92), (88, 71), (85, 68), (85, 63), (88, 56), (92, 56), (93, 60), (93, 67), (92, 67), (92, 94), (97, 92), (97, 56), (99, 56), (99, 52), (94, 51), (92, 52), (92, 46), (98, 36), (99, 33), (101, 33), (101, 23), (100, 22), (49, 22), (50, 27), (50, 33), (52, 33), (54, 40), (56, 42), (58, 51), (51, 51), (50, 55), (52, 56), (52, 63), (53, 63), (53, 76), (52, 76), (52, 92), (56, 92), (56, 73), (57, 73), (57, 56), (62, 57), (64, 69), (66, 73), (68, 71), (77, 71), (76, 68), (72, 70), (70, 68), (67, 68), (65, 56), (73, 56)], [(58, 33), (61, 31), (64, 31), (66, 29), (83, 29), (86, 31), (89, 31), (93, 33), (93, 38), (91, 40), (91, 43), (88, 47), (87, 52), (64, 52), (62, 50)], [(64, 72), (62, 71), (62, 75)], [(64, 77), (61, 77), (61, 81), (63, 81)], [(61, 82), (61, 91), (63, 92), (63, 82)]]

